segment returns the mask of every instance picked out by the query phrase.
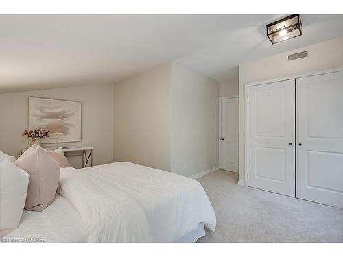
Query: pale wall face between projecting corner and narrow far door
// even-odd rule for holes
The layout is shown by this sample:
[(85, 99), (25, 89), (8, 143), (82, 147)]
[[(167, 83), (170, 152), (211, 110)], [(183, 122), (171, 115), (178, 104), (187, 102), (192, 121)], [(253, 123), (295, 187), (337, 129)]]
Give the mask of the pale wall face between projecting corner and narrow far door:
[(219, 83), (171, 63), (171, 171), (191, 176), (218, 166)]

